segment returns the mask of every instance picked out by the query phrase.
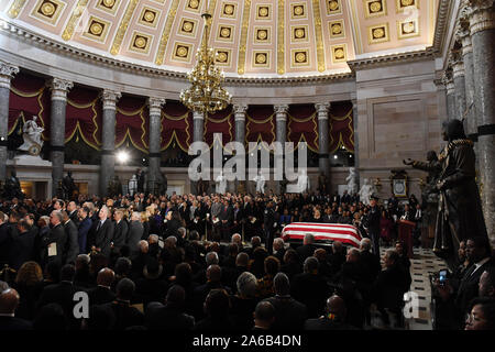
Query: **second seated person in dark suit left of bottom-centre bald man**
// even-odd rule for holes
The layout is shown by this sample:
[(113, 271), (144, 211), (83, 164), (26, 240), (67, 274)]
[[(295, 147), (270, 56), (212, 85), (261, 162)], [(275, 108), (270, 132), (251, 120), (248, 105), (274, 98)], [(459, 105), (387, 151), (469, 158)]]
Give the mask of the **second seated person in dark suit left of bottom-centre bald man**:
[(148, 330), (193, 330), (195, 318), (184, 312), (186, 292), (180, 285), (168, 288), (165, 305), (152, 301), (146, 307), (145, 326)]

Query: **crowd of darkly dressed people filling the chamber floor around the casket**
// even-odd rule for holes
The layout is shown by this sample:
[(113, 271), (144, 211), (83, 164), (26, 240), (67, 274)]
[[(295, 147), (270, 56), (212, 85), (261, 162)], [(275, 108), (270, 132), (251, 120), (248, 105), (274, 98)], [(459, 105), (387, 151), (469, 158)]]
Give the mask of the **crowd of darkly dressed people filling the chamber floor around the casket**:
[[(365, 222), (367, 208), (344, 196), (2, 200), (0, 265), (8, 266), (0, 283), (0, 329), (365, 329), (373, 308), (385, 327), (403, 328), (411, 283), (404, 243), (385, 252), (382, 267), (367, 238), (360, 249), (338, 241), (319, 246), (311, 234), (293, 248), (279, 238), (294, 221)], [(264, 245), (268, 201), (275, 205), (273, 246)], [(485, 260), (490, 244), (482, 254), (471, 250), (480, 245), (476, 239), (470, 241), (464, 265), (480, 268), (477, 282), (493, 296), (493, 272), (484, 274), (492, 263)], [(468, 287), (462, 277), (444, 294), (443, 310), (459, 318), (471, 309), (485, 319), (477, 324), (483, 328), (493, 323), (492, 306), (484, 296), (472, 302), (474, 283)], [(89, 318), (74, 316), (79, 292), (89, 298)]]

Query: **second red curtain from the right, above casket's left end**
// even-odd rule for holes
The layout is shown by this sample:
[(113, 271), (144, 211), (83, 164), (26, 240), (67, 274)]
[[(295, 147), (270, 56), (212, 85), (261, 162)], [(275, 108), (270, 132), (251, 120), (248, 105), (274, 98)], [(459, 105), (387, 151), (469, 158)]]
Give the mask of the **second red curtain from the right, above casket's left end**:
[(318, 153), (318, 118), (315, 105), (294, 105), (287, 117), (287, 142), (306, 142), (308, 147)]

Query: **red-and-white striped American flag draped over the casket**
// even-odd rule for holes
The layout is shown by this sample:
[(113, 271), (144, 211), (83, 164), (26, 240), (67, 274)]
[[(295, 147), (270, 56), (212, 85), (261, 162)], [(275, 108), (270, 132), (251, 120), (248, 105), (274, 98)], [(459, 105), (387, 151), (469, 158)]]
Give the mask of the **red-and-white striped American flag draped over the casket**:
[(343, 244), (359, 248), (362, 237), (352, 224), (342, 223), (318, 223), (318, 222), (293, 222), (282, 230), (284, 241), (302, 241), (305, 234), (311, 233), (315, 242), (340, 241)]

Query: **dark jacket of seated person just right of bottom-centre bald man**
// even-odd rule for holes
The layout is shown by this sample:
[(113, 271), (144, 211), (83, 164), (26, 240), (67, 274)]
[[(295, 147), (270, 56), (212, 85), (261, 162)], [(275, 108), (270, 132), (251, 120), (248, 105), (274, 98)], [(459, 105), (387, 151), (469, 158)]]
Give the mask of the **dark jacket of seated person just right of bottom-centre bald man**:
[(308, 316), (306, 306), (293, 297), (274, 296), (266, 298), (275, 308), (272, 328), (278, 331), (300, 331)]

